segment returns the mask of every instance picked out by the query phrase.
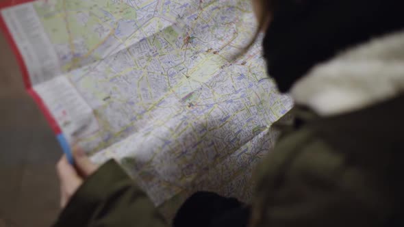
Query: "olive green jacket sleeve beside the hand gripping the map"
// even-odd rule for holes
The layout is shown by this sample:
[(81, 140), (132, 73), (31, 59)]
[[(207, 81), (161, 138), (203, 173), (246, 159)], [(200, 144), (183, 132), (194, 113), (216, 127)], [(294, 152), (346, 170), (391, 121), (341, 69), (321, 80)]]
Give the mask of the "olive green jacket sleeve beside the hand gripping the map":
[(116, 161), (108, 161), (79, 187), (54, 227), (166, 226), (134, 181)]

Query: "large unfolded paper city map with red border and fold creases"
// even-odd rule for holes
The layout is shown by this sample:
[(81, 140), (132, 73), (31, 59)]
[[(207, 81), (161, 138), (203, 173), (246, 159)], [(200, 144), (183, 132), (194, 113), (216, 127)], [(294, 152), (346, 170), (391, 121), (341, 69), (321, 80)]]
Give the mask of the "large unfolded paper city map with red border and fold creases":
[(116, 159), (156, 205), (184, 190), (246, 197), (292, 108), (260, 41), (234, 60), (257, 27), (249, 0), (21, 0), (1, 18), (64, 148)]

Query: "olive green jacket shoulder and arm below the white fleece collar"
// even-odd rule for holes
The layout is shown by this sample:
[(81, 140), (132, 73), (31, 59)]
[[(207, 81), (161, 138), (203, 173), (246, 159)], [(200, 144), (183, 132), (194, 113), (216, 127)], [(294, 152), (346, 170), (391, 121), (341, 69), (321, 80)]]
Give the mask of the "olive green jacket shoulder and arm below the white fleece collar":
[(404, 98), (335, 117), (294, 109), (256, 171), (251, 226), (402, 226)]

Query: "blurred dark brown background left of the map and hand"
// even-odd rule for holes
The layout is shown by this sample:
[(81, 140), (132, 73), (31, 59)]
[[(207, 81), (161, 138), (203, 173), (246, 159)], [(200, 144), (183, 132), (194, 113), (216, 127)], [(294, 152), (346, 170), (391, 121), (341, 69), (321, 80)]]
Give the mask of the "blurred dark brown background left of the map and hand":
[(59, 212), (62, 151), (1, 33), (0, 50), (0, 227), (50, 226)]

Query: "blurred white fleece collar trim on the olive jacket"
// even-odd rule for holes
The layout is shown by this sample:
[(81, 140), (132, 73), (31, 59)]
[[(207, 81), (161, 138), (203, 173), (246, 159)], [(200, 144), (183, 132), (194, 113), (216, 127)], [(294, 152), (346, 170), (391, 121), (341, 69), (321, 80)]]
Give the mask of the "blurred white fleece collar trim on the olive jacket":
[(404, 92), (404, 31), (361, 44), (315, 66), (290, 93), (321, 116), (362, 109)]

